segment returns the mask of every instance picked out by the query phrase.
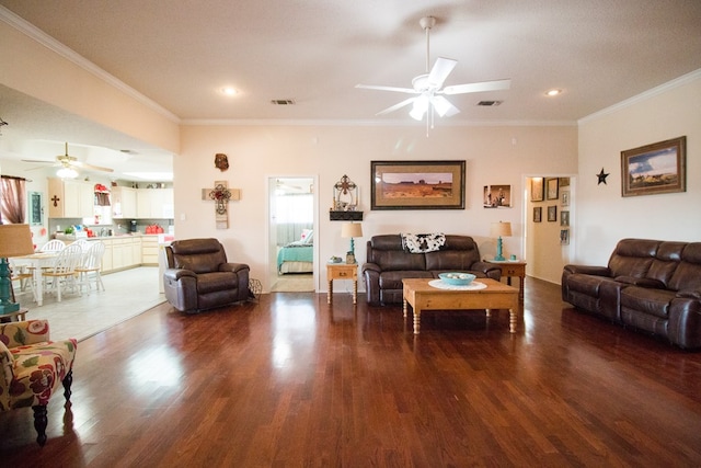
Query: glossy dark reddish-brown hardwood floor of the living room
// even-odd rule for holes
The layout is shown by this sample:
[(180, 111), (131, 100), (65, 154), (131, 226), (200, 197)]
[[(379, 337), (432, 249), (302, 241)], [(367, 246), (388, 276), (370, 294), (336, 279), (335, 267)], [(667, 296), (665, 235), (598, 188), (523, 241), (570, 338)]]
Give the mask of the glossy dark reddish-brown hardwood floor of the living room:
[(700, 466), (701, 353), (527, 278), (508, 312), (277, 293), (197, 316), (159, 306), (79, 344), (72, 407), (0, 413), (0, 465)]

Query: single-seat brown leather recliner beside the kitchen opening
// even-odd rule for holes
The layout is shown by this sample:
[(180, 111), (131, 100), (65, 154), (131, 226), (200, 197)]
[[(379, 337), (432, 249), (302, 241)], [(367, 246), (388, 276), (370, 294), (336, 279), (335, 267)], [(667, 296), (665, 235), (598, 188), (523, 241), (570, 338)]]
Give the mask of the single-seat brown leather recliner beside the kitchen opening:
[(165, 247), (165, 298), (182, 312), (198, 312), (246, 300), (249, 265), (228, 263), (217, 239), (185, 239)]

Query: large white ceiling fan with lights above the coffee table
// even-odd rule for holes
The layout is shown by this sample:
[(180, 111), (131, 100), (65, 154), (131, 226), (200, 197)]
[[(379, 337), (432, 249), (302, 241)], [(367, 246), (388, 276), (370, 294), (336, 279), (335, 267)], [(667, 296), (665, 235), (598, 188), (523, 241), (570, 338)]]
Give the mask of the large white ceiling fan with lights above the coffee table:
[[(444, 81), (446, 80), (446, 78), (448, 78), (448, 75), (450, 75), (458, 61), (450, 58), (438, 57), (438, 59), (436, 59), (436, 62), (434, 64), (434, 67), (430, 69), (430, 71), (428, 71), (430, 47), (429, 34), (430, 28), (436, 25), (436, 19), (434, 16), (424, 16), (418, 21), (418, 24), (426, 32), (426, 73), (415, 77), (412, 80), (412, 88), (395, 88), (372, 84), (355, 85), (356, 88), (366, 90), (393, 91), (407, 94), (417, 94), (414, 98), (409, 98), (398, 104), (380, 111), (376, 115), (388, 114), (409, 104), (413, 104), (412, 111), (409, 113), (409, 115), (411, 115), (416, 121), (421, 121), (424, 118), (425, 114), (429, 114), (433, 127), (434, 112), (440, 117), (449, 117), (460, 112), (460, 110), (452, 105), (452, 103), (450, 103), (450, 101), (448, 101), (445, 95), (466, 94), (484, 91), (499, 91), (508, 90), (510, 88), (510, 79), (456, 84), (443, 88)], [(428, 127), (428, 118), (426, 119), (426, 126)]]

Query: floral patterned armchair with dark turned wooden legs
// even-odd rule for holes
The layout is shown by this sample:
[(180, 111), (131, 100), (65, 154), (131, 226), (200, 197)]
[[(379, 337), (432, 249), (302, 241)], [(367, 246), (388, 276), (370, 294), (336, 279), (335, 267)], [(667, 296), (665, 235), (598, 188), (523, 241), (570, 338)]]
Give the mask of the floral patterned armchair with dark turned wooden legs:
[(64, 385), (70, 404), (74, 339), (51, 342), (47, 320), (0, 323), (0, 410), (32, 407), (36, 442), (46, 443), (46, 406)]

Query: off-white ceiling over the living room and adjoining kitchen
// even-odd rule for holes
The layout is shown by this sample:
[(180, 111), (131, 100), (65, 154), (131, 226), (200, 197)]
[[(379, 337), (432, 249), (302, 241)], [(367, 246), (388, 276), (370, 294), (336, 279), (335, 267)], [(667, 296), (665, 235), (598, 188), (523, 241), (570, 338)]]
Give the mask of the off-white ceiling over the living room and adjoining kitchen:
[[(182, 122), (303, 119), (414, 123), (375, 114), (425, 72), (418, 25), (433, 15), (430, 64), (458, 60), (446, 85), (512, 79), (508, 91), (449, 96), (461, 113), (437, 125), (574, 123), (701, 69), (699, 0), (0, 0), (0, 4)], [(5, 65), (2, 65), (5, 66)], [(233, 98), (225, 85), (239, 90)], [(563, 90), (547, 98), (552, 88)], [(0, 87), (1, 127), (45, 140), (148, 148), (42, 103), (13, 115)], [(8, 98), (10, 96), (10, 98)], [(14, 95), (16, 101), (22, 96)], [(26, 98), (26, 96), (24, 96)], [(273, 105), (291, 99), (295, 105)], [(503, 100), (495, 107), (480, 100)], [(27, 116), (26, 109), (35, 115)], [(13, 110), (14, 112), (15, 110)], [(70, 138), (70, 139), (69, 139)], [(71, 141), (71, 139), (73, 141)], [(146, 159), (146, 157), (145, 157)], [(133, 161), (134, 162), (134, 161)]]

